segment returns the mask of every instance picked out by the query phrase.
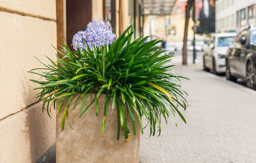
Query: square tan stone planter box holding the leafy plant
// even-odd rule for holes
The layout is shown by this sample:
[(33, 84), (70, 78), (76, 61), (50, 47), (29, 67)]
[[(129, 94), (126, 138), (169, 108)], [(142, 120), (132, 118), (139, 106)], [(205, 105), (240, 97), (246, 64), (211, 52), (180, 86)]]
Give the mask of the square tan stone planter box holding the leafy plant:
[[(83, 98), (79, 99), (76, 109), (73, 109), (75, 101), (76, 98), (73, 98), (70, 103), (64, 130), (61, 130), (63, 107), (56, 118), (56, 162), (139, 162), (139, 121), (136, 123), (137, 134), (135, 136), (133, 136), (132, 124), (128, 123), (131, 131), (130, 140), (125, 142), (124, 134), (121, 131), (120, 139), (117, 141), (117, 111), (116, 107), (115, 109), (111, 108), (111, 99), (106, 113), (104, 137), (102, 137), (105, 95), (98, 99), (98, 117), (96, 116), (96, 103), (94, 103), (79, 118)], [(88, 96), (84, 109), (91, 101), (91, 97)], [(68, 122), (74, 130), (70, 128)]]

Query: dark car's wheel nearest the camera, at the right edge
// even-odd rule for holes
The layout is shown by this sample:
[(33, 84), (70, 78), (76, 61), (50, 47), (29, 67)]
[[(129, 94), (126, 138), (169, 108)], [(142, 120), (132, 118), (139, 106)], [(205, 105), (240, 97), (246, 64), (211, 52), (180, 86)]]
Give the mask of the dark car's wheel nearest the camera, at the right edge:
[(255, 70), (252, 62), (248, 62), (246, 66), (246, 86), (255, 89)]

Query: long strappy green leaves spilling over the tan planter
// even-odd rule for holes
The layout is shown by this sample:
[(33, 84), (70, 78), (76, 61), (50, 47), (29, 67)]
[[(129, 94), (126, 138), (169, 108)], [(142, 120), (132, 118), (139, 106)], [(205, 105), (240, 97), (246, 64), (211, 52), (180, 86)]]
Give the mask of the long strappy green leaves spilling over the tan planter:
[[(169, 65), (172, 56), (163, 54), (165, 51), (155, 46), (160, 41), (144, 43), (147, 37), (132, 41), (132, 29), (132, 26), (129, 26), (111, 45), (94, 47), (94, 50), (79, 48), (77, 52), (72, 52), (63, 43), (64, 52), (59, 51), (61, 58), (56, 55), (57, 62), (46, 56), (51, 65), (42, 63), (46, 67), (41, 69), (42, 73), (35, 73), (35, 69), (29, 71), (46, 79), (45, 82), (31, 79), (31, 82), (41, 85), (35, 89), (41, 90), (36, 98), (38, 101), (43, 100), (43, 111), (46, 110), (50, 116), (50, 104), (54, 104), (57, 113), (61, 105), (66, 106), (62, 115), (62, 129), (68, 109), (73, 109), (69, 106), (70, 101), (76, 94), (83, 97), (80, 117), (94, 102), (98, 114), (98, 97), (100, 94), (106, 94), (102, 135), (106, 122), (106, 107), (112, 105), (113, 109), (117, 109), (117, 139), (120, 130), (124, 131), (128, 139), (131, 129), (127, 125), (128, 116), (132, 122), (133, 134), (136, 134), (136, 119), (139, 120), (143, 134), (143, 115), (150, 125), (150, 135), (155, 135), (157, 127), (160, 135), (161, 117), (164, 117), (166, 122), (167, 117), (171, 117), (175, 122), (173, 117), (177, 113), (186, 123), (182, 113), (177, 109), (179, 105), (186, 109), (184, 97), (187, 94), (182, 90), (179, 79), (186, 77), (175, 74), (173, 65)], [(94, 99), (89, 106), (84, 106), (86, 99), (91, 97), (90, 94), (95, 95)], [(55, 106), (58, 98), (60, 102)], [(68, 99), (68, 103), (63, 103), (65, 98)], [(111, 98), (113, 103), (109, 103)]]

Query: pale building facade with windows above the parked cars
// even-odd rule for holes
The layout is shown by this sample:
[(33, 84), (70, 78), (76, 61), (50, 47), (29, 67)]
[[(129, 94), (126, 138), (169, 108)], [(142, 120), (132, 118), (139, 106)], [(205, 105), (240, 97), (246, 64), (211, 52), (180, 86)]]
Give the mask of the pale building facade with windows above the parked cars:
[(216, 1), (216, 33), (238, 31), (247, 24), (256, 24), (256, 1)]

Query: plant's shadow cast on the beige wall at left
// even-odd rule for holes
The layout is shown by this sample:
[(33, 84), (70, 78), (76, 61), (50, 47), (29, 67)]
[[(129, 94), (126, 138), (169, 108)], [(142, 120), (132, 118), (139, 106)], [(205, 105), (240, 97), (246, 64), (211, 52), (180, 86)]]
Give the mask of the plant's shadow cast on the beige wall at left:
[[(26, 106), (30, 106), (25, 109), (27, 113), (27, 117), (25, 118), (26, 126), (25, 131), (22, 132), (27, 133), (26, 141), (30, 145), (29, 153), (31, 162), (36, 162), (51, 147), (49, 140), (55, 137), (55, 130), (53, 130), (55, 126), (47, 126), (49, 124), (47, 118), (50, 119), (50, 117), (48, 117), (47, 113), (42, 113), (42, 103), (31, 104), (31, 101), (35, 98), (33, 88), (36, 85), (29, 81), (28, 75), (24, 76), (25, 80), (21, 81), (23, 85), (23, 102)], [(55, 111), (53, 111), (52, 115), (55, 115)], [(48, 135), (49, 133), (53, 135)]]

